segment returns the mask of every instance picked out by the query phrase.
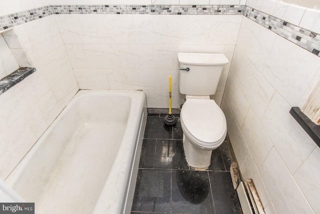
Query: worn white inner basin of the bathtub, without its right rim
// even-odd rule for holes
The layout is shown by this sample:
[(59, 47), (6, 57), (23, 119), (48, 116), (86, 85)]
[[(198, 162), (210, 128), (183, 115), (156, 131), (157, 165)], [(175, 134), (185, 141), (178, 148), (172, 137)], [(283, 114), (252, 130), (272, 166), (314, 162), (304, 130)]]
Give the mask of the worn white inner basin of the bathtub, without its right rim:
[(5, 181), (39, 213), (90, 213), (112, 168), (131, 98), (87, 95), (74, 97)]

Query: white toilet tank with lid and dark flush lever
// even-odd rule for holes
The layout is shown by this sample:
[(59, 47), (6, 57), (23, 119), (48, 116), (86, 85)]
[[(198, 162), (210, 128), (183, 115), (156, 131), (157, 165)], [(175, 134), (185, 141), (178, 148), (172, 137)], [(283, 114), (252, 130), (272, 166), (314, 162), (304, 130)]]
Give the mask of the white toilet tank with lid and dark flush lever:
[(178, 53), (179, 91), (185, 95), (205, 96), (216, 92), (223, 66), (229, 61), (223, 54)]

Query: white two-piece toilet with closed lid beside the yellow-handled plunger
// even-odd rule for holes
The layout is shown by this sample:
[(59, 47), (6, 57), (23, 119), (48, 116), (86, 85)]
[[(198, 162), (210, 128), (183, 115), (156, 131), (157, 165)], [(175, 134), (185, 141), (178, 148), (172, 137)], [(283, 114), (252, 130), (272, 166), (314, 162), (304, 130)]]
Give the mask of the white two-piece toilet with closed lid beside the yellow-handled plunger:
[(226, 136), (226, 121), (214, 95), (223, 66), (223, 54), (178, 53), (179, 91), (185, 94), (180, 112), (183, 149), (187, 163), (195, 168), (210, 165), (211, 153)]

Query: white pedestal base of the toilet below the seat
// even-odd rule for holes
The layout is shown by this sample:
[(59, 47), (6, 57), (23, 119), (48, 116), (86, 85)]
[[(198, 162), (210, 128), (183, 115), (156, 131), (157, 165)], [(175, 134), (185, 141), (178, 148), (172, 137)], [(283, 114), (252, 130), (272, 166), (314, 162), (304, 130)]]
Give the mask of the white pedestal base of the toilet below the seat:
[(195, 147), (183, 134), (183, 150), (186, 162), (195, 168), (206, 168), (211, 163), (212, 150)]

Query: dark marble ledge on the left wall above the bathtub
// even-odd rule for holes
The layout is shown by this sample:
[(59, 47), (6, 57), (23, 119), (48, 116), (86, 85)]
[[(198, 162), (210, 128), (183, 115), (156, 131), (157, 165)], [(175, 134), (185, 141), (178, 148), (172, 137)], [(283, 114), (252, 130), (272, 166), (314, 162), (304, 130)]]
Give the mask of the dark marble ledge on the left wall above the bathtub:
[(35, 72), (35, 68), (19, 68), (0, 80), (0, 94)]

